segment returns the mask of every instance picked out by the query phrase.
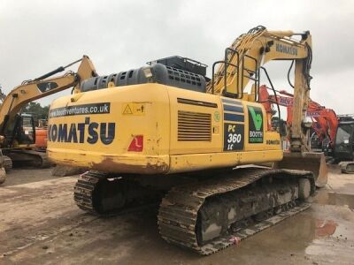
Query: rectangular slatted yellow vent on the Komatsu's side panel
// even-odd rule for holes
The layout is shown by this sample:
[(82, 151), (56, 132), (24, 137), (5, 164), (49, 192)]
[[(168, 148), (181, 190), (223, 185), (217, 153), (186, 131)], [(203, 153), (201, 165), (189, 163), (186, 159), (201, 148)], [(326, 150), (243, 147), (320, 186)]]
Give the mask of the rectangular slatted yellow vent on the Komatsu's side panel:
[(178, 110), (178, 140), (211, 141), (212, 115)]

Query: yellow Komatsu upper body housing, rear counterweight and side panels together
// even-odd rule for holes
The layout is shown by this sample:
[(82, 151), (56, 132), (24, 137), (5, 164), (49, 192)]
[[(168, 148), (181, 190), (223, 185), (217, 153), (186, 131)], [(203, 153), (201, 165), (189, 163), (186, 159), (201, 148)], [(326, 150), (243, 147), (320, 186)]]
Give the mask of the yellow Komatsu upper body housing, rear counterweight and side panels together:
[(156, 83), (57, 99), (47, 152), (58, 164), (142, 174), (282, 159), (261, 104)]

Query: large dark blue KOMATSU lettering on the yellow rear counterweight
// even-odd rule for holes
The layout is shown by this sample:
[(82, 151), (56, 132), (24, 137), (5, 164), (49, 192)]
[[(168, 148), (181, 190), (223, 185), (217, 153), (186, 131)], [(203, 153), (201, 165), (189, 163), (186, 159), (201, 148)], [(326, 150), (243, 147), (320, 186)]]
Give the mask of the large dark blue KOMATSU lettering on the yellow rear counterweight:
[(96, 123), (85, 117), (84, 123), (49, 125), (48, 140), (89, 144), (100, 140), (104, 145), (109, 145), (114, 140), (115, 131), (115, 123)]

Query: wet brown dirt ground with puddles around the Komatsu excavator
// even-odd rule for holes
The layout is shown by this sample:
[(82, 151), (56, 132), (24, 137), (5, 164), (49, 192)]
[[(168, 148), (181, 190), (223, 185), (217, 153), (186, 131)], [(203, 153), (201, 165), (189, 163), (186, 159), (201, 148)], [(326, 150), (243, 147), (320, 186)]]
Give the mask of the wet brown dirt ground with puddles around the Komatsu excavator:
[(354, 175), (335, 166), (311, 208), (207, 257), (160, 239), (156, 207), (84, 213), (76, 178), (12, 170), (0, 186), (0, 264), (354, 264)]

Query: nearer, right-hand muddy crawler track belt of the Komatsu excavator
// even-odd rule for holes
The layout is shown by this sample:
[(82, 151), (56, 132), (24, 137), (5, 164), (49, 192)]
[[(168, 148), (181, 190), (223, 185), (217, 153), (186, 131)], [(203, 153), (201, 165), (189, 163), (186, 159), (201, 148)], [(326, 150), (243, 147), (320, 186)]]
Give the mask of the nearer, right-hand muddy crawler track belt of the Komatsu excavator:
[[(235, 244), (238, 239), (246, 239), (251, 235), (262, 231), (275, 223), (293, 216), (296, 213), (309, 208), (309, 203), (290, 201), (277, 207), (275, 216), (256, 222), (236, 232), (227, 232), (226, 235), (200, 245), (197, 239), (198, 213), (204, 201), (212, 196), (223, 193), (235, 193), (244, 186), (269, 176), (281, 176), (281, 178), (308, 178), (311, 182), (311, 193), (314, 193), (314, 178), (311, 172), (298, 170), (265, 170), (245, 169), (234, 170), (222, 178), (212, 178), (204, 183), (189, 186), (174, 187), (163, 199), (158, 213), (158, 228), (163, 239), (178, 246), (193, 249), (198, 254), (208, 255)], [(275, 210), (272, 212), (275, 212)], [(246, 220), (245, 220), (246, 221)], [(235, 238), (237, 237), (237, 238)]]

